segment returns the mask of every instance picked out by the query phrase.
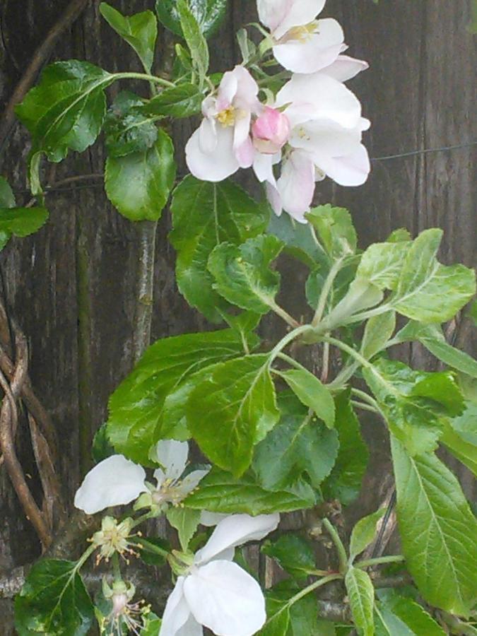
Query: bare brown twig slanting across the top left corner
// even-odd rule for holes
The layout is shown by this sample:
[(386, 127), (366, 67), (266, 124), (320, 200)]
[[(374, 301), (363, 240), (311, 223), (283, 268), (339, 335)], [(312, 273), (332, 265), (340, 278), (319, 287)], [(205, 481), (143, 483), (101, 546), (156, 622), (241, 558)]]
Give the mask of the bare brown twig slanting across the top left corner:
[(35, 54), (33, 54), (32, 61), (30, 61), (28, 68), (26, 69), (25, 73), (23, 73), (23, 77), (20, 79), (15, 90), (13, 91), (13, 95), (8, 101), (6, 109), (4, 110), (4, 115), (1, 118), (0, 151), (1, 149), (3, 149), (4, 143), (6, 142), (6, 139), (8, 138), (8, 135), (13, 128), (13, 124), (15, 123), (16, 105), (23, 100), (25, 94), (33, 85), (33, 82), (35, 81), (37, 74), (40, 72), (43, 64), (45, 64), (49, 56), (52, 54), (54, 46), (57, 44), (59, 37), (67, 28), (69, 28), (69, 26), (76, 20), (76, 18), (81, 15), (88, 2), (89, 0), (72, 0), (66, 7), (64, 13), (62, 13), (57, 23), (55, 23), (49, 30), (47, 37), (45, 37), (45, 40), (43, 40), (40, 47), (37, 48)]

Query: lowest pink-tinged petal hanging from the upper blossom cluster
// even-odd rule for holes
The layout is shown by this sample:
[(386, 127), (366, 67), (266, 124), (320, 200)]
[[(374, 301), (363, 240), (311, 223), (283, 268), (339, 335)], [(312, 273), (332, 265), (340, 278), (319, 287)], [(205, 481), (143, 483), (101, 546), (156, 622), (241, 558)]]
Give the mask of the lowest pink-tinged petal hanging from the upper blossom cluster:
[(307, 223), (314, 194), (314, 164), (307, 153), (295, 151), (283, 163), (278, 192), (285, 212), (299, 223)]

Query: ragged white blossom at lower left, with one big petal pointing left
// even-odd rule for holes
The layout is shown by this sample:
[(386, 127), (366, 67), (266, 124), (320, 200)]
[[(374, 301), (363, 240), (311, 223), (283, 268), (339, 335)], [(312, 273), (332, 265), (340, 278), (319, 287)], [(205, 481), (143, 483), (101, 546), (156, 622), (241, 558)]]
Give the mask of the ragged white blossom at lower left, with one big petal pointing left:
[(126, 505), (137, 497), (143, 505), (177, 505), (208, 473), (208, 470), (192, 471), (181, 478), (187, 466), (187, 442), (161, 440), (154, 452), (155, 459), (164, 469), (155, 470), (155, 486), (146, 481), (142, 466), (123, 455), (112, 455), (89, 471), (76, 492), (74, 505), (86, 514)]

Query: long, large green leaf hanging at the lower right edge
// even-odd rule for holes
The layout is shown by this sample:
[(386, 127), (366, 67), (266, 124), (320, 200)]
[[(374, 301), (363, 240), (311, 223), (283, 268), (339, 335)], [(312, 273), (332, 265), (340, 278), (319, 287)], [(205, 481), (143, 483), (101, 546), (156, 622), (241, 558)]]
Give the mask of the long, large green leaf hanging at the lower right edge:
[(477, 589), (477, 522), (459, 482), (432, 454), (410, 457), (391, 438), (406, 565), (432, 606), (468, 616)]

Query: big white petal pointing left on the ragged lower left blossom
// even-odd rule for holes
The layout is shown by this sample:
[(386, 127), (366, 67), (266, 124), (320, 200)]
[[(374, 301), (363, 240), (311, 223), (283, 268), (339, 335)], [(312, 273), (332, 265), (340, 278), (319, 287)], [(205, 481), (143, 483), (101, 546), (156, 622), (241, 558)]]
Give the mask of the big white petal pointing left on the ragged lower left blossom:
[(146, 472), (123, 455), (112, 455), (95, 466), (76, 491), (74, 505), (95, 514), (111, 506), (128, 504), (146, 493)]

